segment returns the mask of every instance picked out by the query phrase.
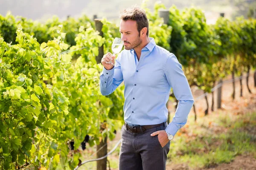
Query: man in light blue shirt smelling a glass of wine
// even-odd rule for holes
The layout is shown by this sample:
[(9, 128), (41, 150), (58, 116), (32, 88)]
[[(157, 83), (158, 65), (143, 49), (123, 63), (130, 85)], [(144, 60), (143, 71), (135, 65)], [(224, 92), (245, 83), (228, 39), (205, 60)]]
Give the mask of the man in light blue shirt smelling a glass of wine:
[[(124, 81), (125, 125), (121, 128), (119, 170), (165, 170), (170, 140), (186, 124), (194, 103), (182, 66), (174, 54), (148, 37), (145, 11), (135, 7), (120, 15), (119, 31), (125, 50), (102, 58), (100, 91), (109, 95)], [(112, 61), (115, 65), (108, 64)], [(170, 89), (179, 100), (167, 125)]]

